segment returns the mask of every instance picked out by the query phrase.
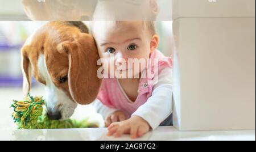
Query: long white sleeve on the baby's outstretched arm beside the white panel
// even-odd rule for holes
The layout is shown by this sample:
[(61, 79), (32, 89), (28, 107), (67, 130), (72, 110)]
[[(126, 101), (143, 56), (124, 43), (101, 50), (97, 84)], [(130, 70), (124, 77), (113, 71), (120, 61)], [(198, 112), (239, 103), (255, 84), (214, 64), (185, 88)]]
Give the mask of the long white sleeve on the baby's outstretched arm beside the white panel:
[(156, 129), (172, 113), (172, 69), (163, 69), (147, 102), (133, 113)]

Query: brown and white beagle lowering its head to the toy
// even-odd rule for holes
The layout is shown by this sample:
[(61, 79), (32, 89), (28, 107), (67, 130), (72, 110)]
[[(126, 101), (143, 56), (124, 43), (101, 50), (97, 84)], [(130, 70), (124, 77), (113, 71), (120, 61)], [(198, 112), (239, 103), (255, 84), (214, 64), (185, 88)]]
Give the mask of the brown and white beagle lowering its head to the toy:
[(27, 39), (21, 54), (23, 92), (30, 91), (31, 77), (43, 83), (50, 119), (68, 119), (77, 104), (96, 99), (100, 57), (82, 22), (48, 22)]

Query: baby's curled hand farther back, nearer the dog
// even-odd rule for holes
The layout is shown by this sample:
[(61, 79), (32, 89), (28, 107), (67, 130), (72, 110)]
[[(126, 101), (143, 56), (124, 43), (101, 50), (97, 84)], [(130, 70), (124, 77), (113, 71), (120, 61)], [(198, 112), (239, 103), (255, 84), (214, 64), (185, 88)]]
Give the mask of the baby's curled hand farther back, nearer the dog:
[(115, 112), (111, 113), (108, 117), (106, 117), (105, 126), (108, 127), (112, 123), (123, 121), (126, 119), (127, 119), (127, 117), (126, 117), (125, 113), (123, 113), (122, 111), (115, 111)]

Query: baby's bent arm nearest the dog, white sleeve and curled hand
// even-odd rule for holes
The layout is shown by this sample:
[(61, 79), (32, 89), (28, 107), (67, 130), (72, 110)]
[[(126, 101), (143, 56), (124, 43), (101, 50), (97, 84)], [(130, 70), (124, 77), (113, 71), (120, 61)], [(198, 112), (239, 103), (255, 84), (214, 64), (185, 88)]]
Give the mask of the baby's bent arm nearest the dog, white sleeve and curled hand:
[(109, 108), (106, 105), (102, 104), (100, 100), (95, 100), (93, 102), (94, 108), (96, 111), (101, 114), (105, 120), (105, 126), (108, 127), (110, 124), (126, 120), (127, 117), (125, 113), (119, 111), (118, 109)]

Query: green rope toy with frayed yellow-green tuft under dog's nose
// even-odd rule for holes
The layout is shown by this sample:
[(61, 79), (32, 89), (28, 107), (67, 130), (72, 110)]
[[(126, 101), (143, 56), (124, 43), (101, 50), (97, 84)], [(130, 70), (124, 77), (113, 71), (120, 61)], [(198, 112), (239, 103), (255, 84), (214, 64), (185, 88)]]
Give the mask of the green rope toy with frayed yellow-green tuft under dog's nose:
[(78, 120), (50, 120), (46, 116), (45, 102), (42, 97), (33, 98), (28, 94), (24, 100), (13, 100), (13, 119), (18, 129), (57, 129), (57, 128), (92, 128), (97, 123), (90, 123), (88, 119)]

